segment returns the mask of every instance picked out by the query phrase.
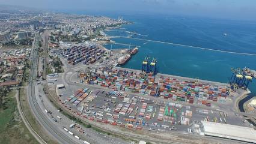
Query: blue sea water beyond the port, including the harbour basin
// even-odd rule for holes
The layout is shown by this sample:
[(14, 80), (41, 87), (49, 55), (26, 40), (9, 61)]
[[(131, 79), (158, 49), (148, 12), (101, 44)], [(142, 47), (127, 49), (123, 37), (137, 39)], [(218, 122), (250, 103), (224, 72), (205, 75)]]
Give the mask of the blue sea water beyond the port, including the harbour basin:
[[(86, 13), (85, 13), (86, 14)], [(164, 41), (207, 49), (238, 53), (256, 54), (256, 22), (210, 19), (206, 17), (168, 16), (154, 14), (91, 13), (133, 22), (121, 29), (136, 32), (135, 38)], [(126, 32), (106, 32), (113, 36), (128, 36)], [(227, 35), (224, 35), (227, 34)], [(123, 67), (141, 70), (145, 56), (157, 58), (159, 73), (183, 77), (198, 77), (203, 80), (227, 83), (231, 68), (249, 67), (256, 70), (256, 56), (216, 52), (186, 46), (175, 46), (129, 38), (112, 38), (117, 43), (132, 44), (139, 52)], [(110, 45), (106, 46), (110, 49)], [(128, 46), (112, 45), (112, 49)], [(249, 85), (252, 95), (256, 95), (256, 79)]]

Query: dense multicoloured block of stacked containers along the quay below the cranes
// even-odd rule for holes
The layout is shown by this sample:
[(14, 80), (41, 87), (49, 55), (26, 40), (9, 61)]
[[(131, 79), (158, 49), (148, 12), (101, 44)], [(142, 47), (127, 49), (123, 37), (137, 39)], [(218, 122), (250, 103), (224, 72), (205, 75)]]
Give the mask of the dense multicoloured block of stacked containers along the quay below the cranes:
[[(86, 75), (86, 76), (85, 76)], [(178, 80), (160, 76), (158, 80), (151, 74), (141, 72), (100, 68), (96, 73), (80, 73), (82, 82), (142, 95), (151, 95), (174, 101), (211, 106), (210, 101), (225, 102), (225, 86)]]

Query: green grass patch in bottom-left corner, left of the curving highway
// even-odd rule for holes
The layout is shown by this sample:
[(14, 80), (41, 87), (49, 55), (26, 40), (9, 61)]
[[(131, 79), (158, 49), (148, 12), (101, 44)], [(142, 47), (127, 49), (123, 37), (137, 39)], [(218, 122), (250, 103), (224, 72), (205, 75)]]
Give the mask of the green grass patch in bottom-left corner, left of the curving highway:
[(0, 111), (0, 142), (38, 143), (19, 115), (15, 95), (16, 92), (10, 91), (4, 98), (7, 109)]

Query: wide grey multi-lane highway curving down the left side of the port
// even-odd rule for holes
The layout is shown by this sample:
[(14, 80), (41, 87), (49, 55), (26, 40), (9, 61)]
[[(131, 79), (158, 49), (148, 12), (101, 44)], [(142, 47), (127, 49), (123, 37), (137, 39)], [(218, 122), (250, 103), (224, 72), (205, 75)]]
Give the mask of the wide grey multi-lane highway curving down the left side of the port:
[(37, 77), (37, 64), (38, 64), (38, 37), (35, 35), (31, 50), (31, 70), (29, 73), (29, 85), (28, 85), (28, 97), (31, 110), (34, 113), (35, 117), (38, 119), (40, 124), (53, 136), (59, 143), (78, 143), (75, 140), (67, 136), (64, 131), (59, 130), (55, 127), (52, 119), (49, 119), (49, 116), (45, 115), (45, 112), (40, 109), (37, 98), (35, 97), (35, 83)]

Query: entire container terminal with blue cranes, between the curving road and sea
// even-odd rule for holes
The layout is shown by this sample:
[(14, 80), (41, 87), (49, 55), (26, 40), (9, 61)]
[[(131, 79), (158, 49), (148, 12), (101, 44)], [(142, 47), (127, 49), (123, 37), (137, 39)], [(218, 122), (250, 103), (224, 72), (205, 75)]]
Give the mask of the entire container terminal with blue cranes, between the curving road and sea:
[[(241, 127), (254, 132), (252, 124), (236, 107), (237, 98), (249, 93), (247, 87), (254, 78), (249, 68), (232, 69), (233, 76), (228, 84), (209, 82), (159, 74), (157, 59), (150, 59), (149, 56), (142, 62), (141, 70), (114, 67), (118, 65), (117, 56), (121, 58), (126, 54), (110, 51), (112, 55), (105, 59), (108, 50), (104, 53), (103, 50), (92, 50), (94, 46), (90, 47), (85, 49), (94, 51), (88, 58), (96, 59), (95, 64), (89, 62), (85, 66), (82, 62), (87, 61), (85, 58), (79, 61), (82, 65), (74, 67), (62, 52), (57, 55), (64, 63), (65, 73), (47, 76), (48, 86), (55, 89), (62, 106), (79, 118), (111, 125), (117, 130), (126, 128), (160, 134), (175, 132), (215, 137), (212, 133), (222, 129), (208, 130), (218, 124), (224, 125), (222, 128), (234, 127), (234, 131)], [(126, 52), (129, 54), (130, 51)], [(107, 65), (97, 62), (100, 55)], [(250, 139), (243, 136), (234, 138), (236, 134), (219, 134), (218, 137), (256, 142), (253, 134)]]

